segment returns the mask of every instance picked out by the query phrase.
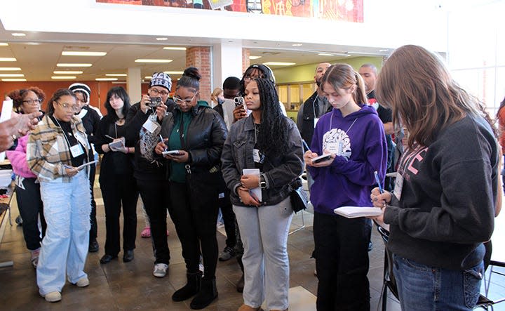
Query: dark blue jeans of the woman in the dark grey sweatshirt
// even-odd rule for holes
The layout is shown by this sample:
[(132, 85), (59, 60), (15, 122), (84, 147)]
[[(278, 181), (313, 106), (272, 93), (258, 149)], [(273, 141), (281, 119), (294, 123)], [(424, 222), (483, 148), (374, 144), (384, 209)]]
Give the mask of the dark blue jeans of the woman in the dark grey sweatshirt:
[(483, 273), (482, 261), (468, 270), (448, 270), (393, 255), (393, 274), (405, 311), (472, 310)]

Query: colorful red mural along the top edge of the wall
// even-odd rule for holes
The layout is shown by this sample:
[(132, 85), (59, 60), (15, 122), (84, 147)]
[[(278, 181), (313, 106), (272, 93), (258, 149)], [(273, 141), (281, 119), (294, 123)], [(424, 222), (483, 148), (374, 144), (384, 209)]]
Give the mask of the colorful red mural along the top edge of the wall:
[(363, 22), (363, 0), (96, 0), (99, 3), (199, 8)]

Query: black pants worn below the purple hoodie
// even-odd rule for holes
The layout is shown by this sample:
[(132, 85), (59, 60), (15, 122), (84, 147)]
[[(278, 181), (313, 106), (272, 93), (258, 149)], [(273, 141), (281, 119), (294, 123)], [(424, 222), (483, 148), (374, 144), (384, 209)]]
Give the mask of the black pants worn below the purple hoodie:
[(368, 218), (314, 213), (318, 311), (370, 310)]

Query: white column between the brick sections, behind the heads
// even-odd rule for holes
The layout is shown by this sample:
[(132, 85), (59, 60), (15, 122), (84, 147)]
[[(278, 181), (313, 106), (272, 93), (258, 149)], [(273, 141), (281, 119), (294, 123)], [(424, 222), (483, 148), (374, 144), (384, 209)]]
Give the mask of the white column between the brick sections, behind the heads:
[(227, 77), (242, 77), (242, 43), (222, 42), (213, 45), (213, 86), (220, 87)]

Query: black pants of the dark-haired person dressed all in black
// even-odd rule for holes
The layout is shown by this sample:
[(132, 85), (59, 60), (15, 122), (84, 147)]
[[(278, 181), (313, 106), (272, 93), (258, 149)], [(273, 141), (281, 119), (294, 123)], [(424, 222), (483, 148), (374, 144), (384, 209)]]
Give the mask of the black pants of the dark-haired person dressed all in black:
[(119, 216), (123, 206), (123, 250), (135, 249), (137, 235), (138, 192), (133, 176), (114, 176), (100, 179), (100, 189), (105, 205), (105, 253), (119, 253)]

